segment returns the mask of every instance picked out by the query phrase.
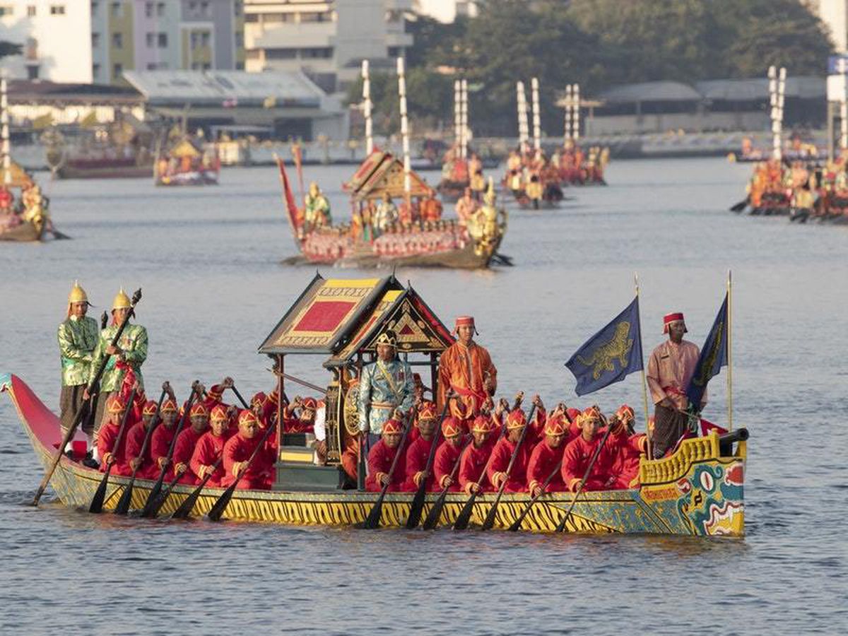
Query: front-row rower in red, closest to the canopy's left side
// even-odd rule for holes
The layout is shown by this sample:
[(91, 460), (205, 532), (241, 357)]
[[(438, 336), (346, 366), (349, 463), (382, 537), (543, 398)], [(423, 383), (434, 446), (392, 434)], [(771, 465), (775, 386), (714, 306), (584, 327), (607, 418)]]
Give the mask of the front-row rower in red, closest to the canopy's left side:
[(248, 465), (250, 455), (262, 441), (259, 435), (259, 421), (253, 411), (243, 410), (238, 416), (238, 432), (224, 444), (224, 472), (221, 486), (227, 488), (238, 478), (239, 472), (244, 471), (238, 480), (236, 488), (249, 490), (270, 490), (274, 479), (274, 462), (268, 453), (256, 453), (254, 460)]

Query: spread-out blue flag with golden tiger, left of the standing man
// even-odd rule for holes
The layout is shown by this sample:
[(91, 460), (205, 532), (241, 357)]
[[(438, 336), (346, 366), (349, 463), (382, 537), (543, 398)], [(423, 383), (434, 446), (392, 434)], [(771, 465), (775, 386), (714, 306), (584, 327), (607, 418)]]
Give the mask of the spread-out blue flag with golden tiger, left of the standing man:
[(639, 297), (577, 349), (566, 366), (577, 378), (577, 395), (621, 382), (628, 374), (642, 369)]

